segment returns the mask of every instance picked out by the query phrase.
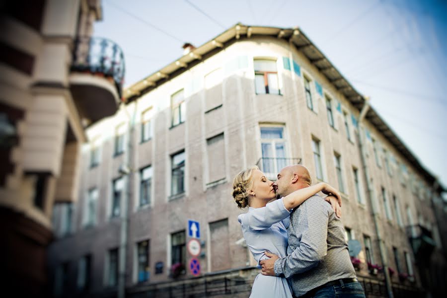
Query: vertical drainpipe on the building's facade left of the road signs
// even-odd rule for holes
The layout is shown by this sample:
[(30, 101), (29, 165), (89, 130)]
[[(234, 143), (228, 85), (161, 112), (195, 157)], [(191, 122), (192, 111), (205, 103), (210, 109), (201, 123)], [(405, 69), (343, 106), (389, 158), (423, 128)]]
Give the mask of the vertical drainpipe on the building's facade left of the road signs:
[(126, 158), (125, 163), (120, 167), (120, 173), (123, 176), (126, 176), (125, 180), (125, 189), (123, 196), (123, 215), (121, 218), (121, 230), (120, 230), (120, 249), (119, 249), (119, 258), (118, 258), (118, 298), (126, 297), (126, 267), (127, 267), (127, 239), (129, 233), (129, 211), (130, 211), (130, 198), (132, 196), (132, 183), (134, 170), (132, 163), (132, 149), (133, 149), (133, 140), (134, 140), (134, 131), (135, 131), (135, 116), (137, 114), (137, 102), (134, 103), (134, 113), (131, 116), (129, 111), (127, 110), (126, 104), (122, 103), (122, 108), (126, 112), (127, 118), (129, 120), (128, 126), (128, 140), (127, 140), (127, 150), (125, 152)]

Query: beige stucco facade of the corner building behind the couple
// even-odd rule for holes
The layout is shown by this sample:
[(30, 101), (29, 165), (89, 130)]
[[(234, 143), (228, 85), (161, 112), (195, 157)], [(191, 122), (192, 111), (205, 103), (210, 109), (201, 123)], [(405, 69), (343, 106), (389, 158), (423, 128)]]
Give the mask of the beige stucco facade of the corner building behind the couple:
[[(242, 232), (236, 220), (241, 212), (246, 211), (237, 209), (230, 192), (234, 175), (241, 169), (256, 164), (263, 157), (262, 127), (283, 128), (281, 141), (285, 144), (285, 157), (290, 158), (289, 160), (301, 158), (301, 163), (309, 168), (314, 182), (321, 180), (337, 187), (339, 181), (334, 154), (340, 156), (345, 189), (342, 194), (342, 222), (351, 229), (352, 238), (358, 239), (362, 245), (362, 251), (358, 255), (362, 262), (359, 277), (376, 281), (383, 279), (371, 275), (366, 264), (364, 239), (369, 236), (375, 264), (396, 270), (392, 251), (395, 247), (401, 273), (408, 273), (410, 269), (407, 268), (404, 253), (408, 253), (410, 257), (409, 263), (415, 281), (399, 282), (396, 273), (391, 277), (393, 287), (422, 287), (405, 230), (405, 226), (413, 224), (430, 228), (437, 241), (435, 255), (440, 266), (445, 266), (444, 248), (431, 205), (432, 200), (439, 198), (436, 186), (430, 185), (427, 174), (422, 174), (418, 167), (413, 167), (407, 156), (396, 149), (373, 123), (363, 120), (356, 124), (360, 110), (300, 49), (281, 38), (283, 34), (279, 37), (276, 33), (272, 35), (274, 36), (247, 34), (229, 39), (222, 49), (200, 57), (201, 59), (184, 70), (180, 69), (169, 76), (158, 73), (158, 77), (166, 77), (161, 83), (156, 82), (156, 86), (152, 88), (139, 87), (151, 86), (152, 83), (146, 79), (135, 83), (125, 93), (128, 98), (133, 99), (132, 102), (122, 107), (115, 116), (87, 130), (88, 139), (92, 142), (84, 145), (81, 150), (73, 232), (52, 245), (52, 268), (61, 264), (73, 264), (70, 275), (75, 277), (76, 262), (82, 256), (91, 255), (93, 264), (90, 290), (93, 293), (113, 293), (116, 290), (107, 286), (106, 255), (108, 250), (118, 247), (120, 242), (119, 227), (123, 215), (111, 217), (112, 183), (122, 176), (120, 168), (125, 165), (130, 167), (130, 173), (124, 175), (129, 188), (121, 197), (120, 204), (121, 210), (125, 210), (123, 205), (126, 202), (129, 206), (126, 256), (126, 272), (130, 273), (126, 277), (128, 289), (172, 281), (169, 276), (172, 265), (171, 234), (187, 229), (188, 220), (200, 223), (200, 240), (203, 240), (201, 250), (204, 254), (199, 260), (203, 275), (226, 269), (237, 271), (239, 268), (255, 265), (240, 240)], [(259, 58), (276, 61), (281, 94), (256, 94), (253, 61)], [(209, 76), (211, 74), (213, 79)], [(156, 77), (157, 74), (153, 76)], [(312, 110), (306, 105), (304, 77), (311, 82)], [(321, 93), (315, 82), (321, 86)], [(182, 89), (186, 103), (185, 121), (172, 126), (171, 95)], [(331, 99), (333, 127), (328, 123), (326, 97)], [(151, 115), (151, 138), (142, 142), (143, 113), (148, 109)], [(348, 140), (344, 113), (348, 116), (351, 140)], [(129, 138), (130, 142), (122, 154), (116, 155), (115, 135), (117, 127), (123, 123), (126, 126), (125, 144)], [(359, 147), (359, 136), (367, 152), (365, 164)], [(322, 179), (316, 178), (312, 139), (318, 140), (320, 144)], [(380, 166), (375, 161), (373, 139), (376, 147), (380, 148), (377, 149)], [(90, 154), (98, 144), (99, 164), (91, 167)], [(387, 152), (391, 174), (387, 173), (383, 149)], [(171, 156), (181, 151), (185, 152), (185, 188), (183, 193), (172, 195)], [(401, 181), (402, 164), (406, 166), (408, 176), (421, 183), (416, 186), (421, 196), (412, 191), (413, 180), (404, 176)], [(140, 207), (141, 169), (147, 166), (151, 166), (153, 173), (150, 202)], [(360, 198), (356, 194), (353, 168), (357, 169), (359, 175)], [(366, 181), (365, 168), (368, 168), (370, 183)], [(382, 188), (389, 203), (382, 197)], [(88, 194), (93, 189), (97, 189), (99, 193), (95, 224), (85, 226)], [(393, 196), (396, 198), (396, 205), (393, 204)], [(389, 219), (386, 204), (389, 204), (386, 206), (391, 214)], [(409, 210), (410, 217), (406, 210)], [(397, 221), (398, 213), (401, 223)], [(379, 219), (377, 228), (373, 214), (377, 214)], [(378, 247), (377, 230), (387, 251), (383, 260)], [(186, 238), (189, 239), (188, 236)], [(149, 280), (138, 284), (136, 247), (143, 240), (149, 240)], [(186, 258), (188, 264), (191, 259), (188, 252)], [(162, 273), (155, 272), (157, 263), (162, 263)], [(256, 269), (253, 272), (256, 273)], [(186, 270), (182, 278), (191, 277), (192, 274)]]

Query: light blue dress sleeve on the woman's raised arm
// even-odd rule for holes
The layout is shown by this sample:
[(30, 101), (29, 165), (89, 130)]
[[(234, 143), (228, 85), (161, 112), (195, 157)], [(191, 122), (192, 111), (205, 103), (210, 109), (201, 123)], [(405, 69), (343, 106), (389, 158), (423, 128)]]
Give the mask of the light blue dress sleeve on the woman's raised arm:
[(284, 206), (283, 198), (268, 203), (265, 207), (251, 209), (244, 216), (250, 229), (262, 230), (288, 218), (290, 211)]

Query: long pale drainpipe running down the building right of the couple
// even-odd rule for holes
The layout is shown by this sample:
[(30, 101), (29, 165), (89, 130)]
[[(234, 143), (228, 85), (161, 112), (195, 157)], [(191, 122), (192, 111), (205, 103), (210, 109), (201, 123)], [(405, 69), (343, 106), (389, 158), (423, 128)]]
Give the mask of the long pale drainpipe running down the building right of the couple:
[(365, 116), (368, 112), (368, 109), (370, 108), (370, 98), (365, 98), (365, 104), (362, 108), (362, 111), (360, 112), (359, 116), (359, 130), (358, 130), (358, 139), (359, 139), (359, 149), (361, 152), (361, 160), (362, 160), (362, 166), (363, 166), (363, 172), (365, 173), (365, 179), (367, 181), (367, 188), (368, 188), (368, 199), (370, 200), (371, 206), (373, 208), (373, 220), (374, 220), (374, 227), (375, 227), (375, 233), (377, 234), (377, 240), (379, 243), (379, 251), (380, 251), (380, 258), (382, 260), (382, 266), (383, 266), (383, 274), (385, 275), (385, 287), (386, 292), (388, 294), (389, 298), (393, 298), (393, 290), (391, 286), (391, 278), (389, 276), (388, 272), (388, 258), (386, 253), (386, 247), (385, 242), (382, 238), (382, 233), (380, 232), (380, 219), (378, 217), (378, 210), (377, 205), (374, 203), (374, 187), (372, 178), (369, 172), (369, 167), (367, 163), (367, 151), (365, 146), (365, 133), (364, 133), (364, 127), (363, 122), (365, 119)]

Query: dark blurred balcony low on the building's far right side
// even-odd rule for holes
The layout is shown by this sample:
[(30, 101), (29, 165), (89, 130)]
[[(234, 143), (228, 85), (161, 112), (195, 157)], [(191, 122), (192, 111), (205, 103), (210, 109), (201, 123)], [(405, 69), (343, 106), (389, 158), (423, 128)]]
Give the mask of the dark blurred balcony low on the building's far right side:
[(436, 247), (432, 232), (419, 224), (406, 226), (406, 232), (416, 260), (428, 262)]

